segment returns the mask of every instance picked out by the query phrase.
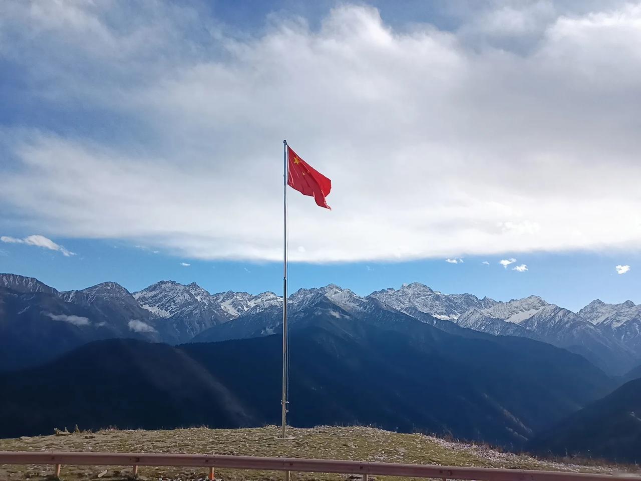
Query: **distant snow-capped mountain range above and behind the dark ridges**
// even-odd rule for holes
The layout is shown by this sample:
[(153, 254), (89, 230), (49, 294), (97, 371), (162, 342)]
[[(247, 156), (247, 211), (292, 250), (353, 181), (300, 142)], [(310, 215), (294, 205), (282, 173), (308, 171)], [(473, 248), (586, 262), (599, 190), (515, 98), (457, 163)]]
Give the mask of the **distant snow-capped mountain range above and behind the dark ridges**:
[[(632, 301), (595, 300), (572, 312), (538, 296), (501, 302), (414, 282), (363, 297), (330, 284), (294, 292), (288, 312), (296, 316), (321, 299), (360, 317), (383, 306), (446, 332), (528, 337), (578, 353), (612, 375), (641, 362), (641, 305)], [(210, 294), (174, 281), (133, 293), (114, 282), (59, 292), (34, 278), (0, 274), (0, 302), (0, 369), (14, 369), (110, 337), (181, 344), (269, 335), (280, 328), (283, 301), (274, 292)]]

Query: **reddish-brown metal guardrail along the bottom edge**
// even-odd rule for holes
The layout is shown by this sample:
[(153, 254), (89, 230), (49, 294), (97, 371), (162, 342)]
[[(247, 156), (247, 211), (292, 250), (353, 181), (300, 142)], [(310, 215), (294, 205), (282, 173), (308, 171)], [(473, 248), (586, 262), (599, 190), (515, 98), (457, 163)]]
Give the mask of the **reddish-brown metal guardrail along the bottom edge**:
[(429, 464), (402, 464), (394, 462), (343, 461), (335, 459), (268, 458), (253, 456), (225, 456), (207, 454), (165, 453), (82, 453), (46, 451), (0, 451), (0, 464), (51, 464), (56, 466), (180, 466), (209, 468), (213, 479), (215, 468), (261, 469), (306, 473), (360, 474), (363, 480), (369, 475), (400, 476), (410, 478), (442, 478), (465, 481), (641, 481), (640, 476), (624, 474), (601, 475), (568, 471), (536, 471), (530, 469), (459, 468)]

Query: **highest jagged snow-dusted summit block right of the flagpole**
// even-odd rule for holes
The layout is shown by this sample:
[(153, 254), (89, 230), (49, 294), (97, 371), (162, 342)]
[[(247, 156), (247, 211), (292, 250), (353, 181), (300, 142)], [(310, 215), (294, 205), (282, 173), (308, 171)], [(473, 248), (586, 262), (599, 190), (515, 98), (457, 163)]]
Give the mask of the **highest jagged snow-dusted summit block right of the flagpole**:
[[(403, 284), (401, 289), (383, 289), (368, 297), (377, 299), (388, 307), (410, 314), (412, 308), (437, 319), (456, 321), (470, 308), (488, 308), (496, 304), (490, 298), (479, 299), (472, 294), (442, 294), (419, 282)], [(411, 315), (411, 314), (410, 314)]]

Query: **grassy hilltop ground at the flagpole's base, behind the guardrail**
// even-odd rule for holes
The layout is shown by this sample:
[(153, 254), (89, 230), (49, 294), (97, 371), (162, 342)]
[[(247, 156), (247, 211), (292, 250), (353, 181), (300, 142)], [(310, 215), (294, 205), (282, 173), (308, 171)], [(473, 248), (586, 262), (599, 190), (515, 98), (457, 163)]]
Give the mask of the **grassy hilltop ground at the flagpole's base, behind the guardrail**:
[[(110, 451), (213, 453), (224, 455), (282, 456), (319, 459), (351, 459), (382, 462), (479, 466), (488, 468), (545, 469), (613, 473), (630, 466), (595, 466), (540, 460), (526, 455), (501, 453), (477, 444), (453, 443), (422, 434), (397, 434), (365, 427), (290, 428), (289, 439), (279, 439), (276, 426), (251, 429), (191, 428), (167, 431), (101, 430), (69, 435), (0, 439), (0, 451)], [(106, 473), (103, 471), (106, 470)], [(0, 466), (0, 480), (38, 480), (50, 476), (52, 466)], [(115, 481), (126, 478), (131, 467), (63, 466), (63, 480)], [(140, 466), (138, 474), (149, 480), (199, 480), (206, 469), (153, 468)], [(278, 481), (283, 473), (220, 469), (217, 480)], [(292, 480), (339, 481), (347, 475), (292, 473)], [(385, 481), (386, 477), (376, 477)], [(392, 478), (389, 478), (390, 480)]]

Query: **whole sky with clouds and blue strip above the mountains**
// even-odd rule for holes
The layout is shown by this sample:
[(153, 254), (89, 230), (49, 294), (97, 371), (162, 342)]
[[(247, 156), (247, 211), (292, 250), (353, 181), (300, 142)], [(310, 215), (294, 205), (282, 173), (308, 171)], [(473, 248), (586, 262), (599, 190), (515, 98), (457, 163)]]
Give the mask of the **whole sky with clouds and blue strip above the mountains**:
[(4, 1), (0, 271), (281, 292), (287, 139), (333, 185), (294, 289), (639, 303), (640, 41), (617, 0)]

